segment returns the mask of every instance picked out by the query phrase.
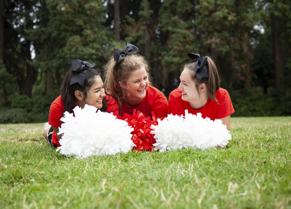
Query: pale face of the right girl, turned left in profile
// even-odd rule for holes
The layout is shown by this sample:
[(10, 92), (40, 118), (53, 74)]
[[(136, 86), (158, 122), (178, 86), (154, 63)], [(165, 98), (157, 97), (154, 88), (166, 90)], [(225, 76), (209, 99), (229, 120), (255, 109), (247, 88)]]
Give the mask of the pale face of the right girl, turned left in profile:
[(187, 102), (194, 102), (199, 100), (199, 94), (196, 89), (195, 82), (191, 79), (189, 69), (184, 69), (180, 75), (180, 85), (178, 89), (182, 92), (182, 100)]

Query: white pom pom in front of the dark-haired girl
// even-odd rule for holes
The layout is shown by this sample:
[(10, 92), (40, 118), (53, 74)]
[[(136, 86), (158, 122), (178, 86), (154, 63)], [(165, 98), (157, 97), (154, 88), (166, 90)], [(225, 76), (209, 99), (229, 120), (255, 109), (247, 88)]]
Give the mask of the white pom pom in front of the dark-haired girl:
[[(133, 128), (124, 120), (116, 119), (113, 113), (97, 111), (94, 106), (85, 105), (83, 109), (76, 107), (73, 113), (65, 112), (61, 120), (64, 122), (58, 134), (63, 134), (59, 143), (63, 155), (86, 158), (129, 152), (132, 142)], [(97, 111), (97, 113), (96, 113)]]

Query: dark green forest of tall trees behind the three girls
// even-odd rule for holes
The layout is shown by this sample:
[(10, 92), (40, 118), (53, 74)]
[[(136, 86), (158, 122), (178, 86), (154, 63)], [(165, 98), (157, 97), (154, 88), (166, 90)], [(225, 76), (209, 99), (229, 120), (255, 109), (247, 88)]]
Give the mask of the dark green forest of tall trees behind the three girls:
[(3, 0), (0, 17), (0, 123), (46, 122), (70, 61), (103, 72), (126, 42), (166, 97), (187, 53), (200, 53), (216, 62), (232, 116), (291, 115), (290, 0)]

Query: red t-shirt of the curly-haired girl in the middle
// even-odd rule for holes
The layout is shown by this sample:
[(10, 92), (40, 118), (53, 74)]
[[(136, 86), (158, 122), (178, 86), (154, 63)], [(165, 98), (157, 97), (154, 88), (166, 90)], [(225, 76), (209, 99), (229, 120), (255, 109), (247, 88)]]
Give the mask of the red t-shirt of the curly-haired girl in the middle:
[(123, 116), (124, 113), (132, 115), (134, 109), (141, 111), (147, 117), (152, 116), (151, 115), (152, 111), (155, 113), (157, 118), (162, 118), (168, 114), (167, 98), (161, 91), (152, 86), (148, 86), (148, 89), (146, 90), (146, 95), (143, 98), (141, 104), (139, 104), (139, 106), (135, 108), (128, 108), (125, 106), (123, 101), (121, 102), (122, 102), (121, 116)]

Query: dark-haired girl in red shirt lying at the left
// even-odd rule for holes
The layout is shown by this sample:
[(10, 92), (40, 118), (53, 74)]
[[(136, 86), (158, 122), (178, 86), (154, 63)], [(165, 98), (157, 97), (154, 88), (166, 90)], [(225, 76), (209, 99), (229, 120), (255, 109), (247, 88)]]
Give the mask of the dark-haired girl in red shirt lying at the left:
[(57, 135), (61, 127), (61, 118), (65, 111), (73, 112), (74, 107), (84, 108), (85, 104), (95, 106), (102, 112), (113, 113), (119, 116), (117, 102), (113, 97), (105, 94), (100, 71), (85, 61), (72, 60), (72, 68), (66, 73), (60, 93), (49, 109), (48, 128), (44, 136), (52, 146), (61, 146)]

